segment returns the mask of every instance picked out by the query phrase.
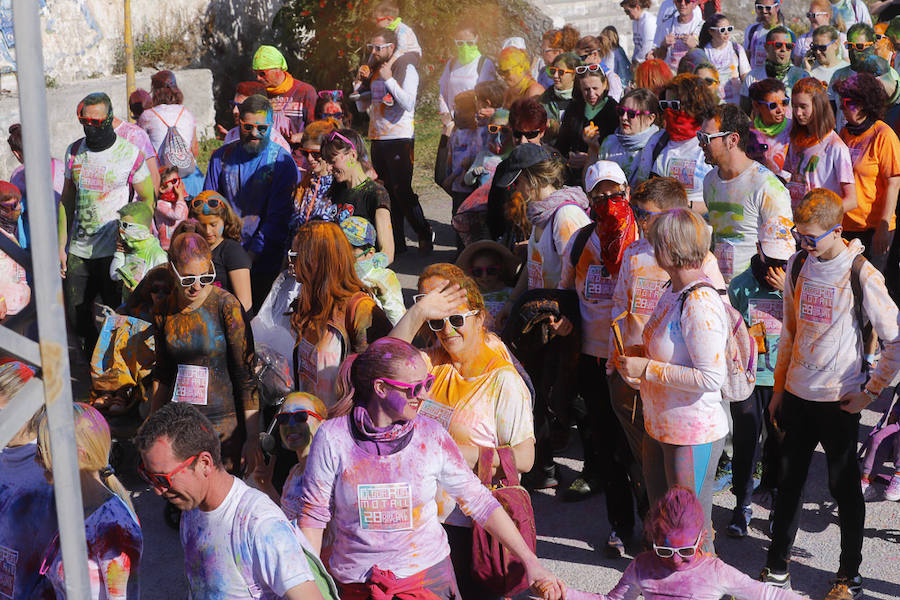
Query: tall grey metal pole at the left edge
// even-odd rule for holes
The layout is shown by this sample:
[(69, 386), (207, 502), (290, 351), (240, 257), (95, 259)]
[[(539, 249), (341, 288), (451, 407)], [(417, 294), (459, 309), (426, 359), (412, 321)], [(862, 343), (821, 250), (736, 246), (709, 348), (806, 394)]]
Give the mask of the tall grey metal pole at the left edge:
[(66, 595), (73, 600), (91, 596), (87, 570), (87, 543), (75, 448), (72, 386), (69, 373), (66, 320), (59, 278), (59, 236), (56, 201), (47, 177), (50, 168), (50, 134), (47, 98), (44, 94), (44, 58), (41, 21), (34, 0), (12, 0), (16, 61), (19, 79), (19, 112), (25, 150), (28, 210), (32, 215), (31, 254), (34, 263), (34, 298), (38, 317), (41, 378), (50, 425), (53, 456), (53, 488)]

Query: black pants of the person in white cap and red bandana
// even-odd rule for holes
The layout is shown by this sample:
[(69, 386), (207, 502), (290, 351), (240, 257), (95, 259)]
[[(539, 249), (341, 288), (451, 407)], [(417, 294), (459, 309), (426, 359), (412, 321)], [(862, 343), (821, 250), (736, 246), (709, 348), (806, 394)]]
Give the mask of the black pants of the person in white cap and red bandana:
[(579, 396), (573, 402), (572, 416), (584, 448), (582, 477), (603, 487), (609, 524), (619, 535), (627, 536), (634, 529), (628, 474), (635, 460), (610, 403), (606, 359), (582, 354), (577, 378)]

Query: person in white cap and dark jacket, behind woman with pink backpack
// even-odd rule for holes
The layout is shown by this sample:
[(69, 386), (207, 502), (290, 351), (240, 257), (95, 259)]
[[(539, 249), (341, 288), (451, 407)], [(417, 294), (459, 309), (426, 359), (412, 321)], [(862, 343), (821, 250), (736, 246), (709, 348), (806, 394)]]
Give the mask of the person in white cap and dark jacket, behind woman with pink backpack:
[(768, 408), (781, 337), (784, 266), (797, 249), (791, 227), (791, 222), (784, 217), (766, 221), (759, 230), (756, 255), (750, 259), (750, 267), (735, 276), (728, 286), (728, 299), (744, 316), (759, 352), (753, 394), (742, 402), (729, 403), (734, 422), (731, 490), (737, 499), (727, 530), (731, 537), (747, 535), (752, 514), (753, 467), (756, 465), (756, 450), (763, 423), (766, 425), (766, 447), (760, 487), (774, 490), (778, 481), (778, 432), (772, 426)]

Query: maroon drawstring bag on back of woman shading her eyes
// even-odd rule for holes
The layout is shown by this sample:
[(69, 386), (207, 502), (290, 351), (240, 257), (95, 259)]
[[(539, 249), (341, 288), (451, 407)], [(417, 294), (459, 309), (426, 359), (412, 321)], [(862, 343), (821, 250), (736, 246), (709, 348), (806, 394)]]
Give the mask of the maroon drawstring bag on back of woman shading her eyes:
[[(500, 485), (491, 485), (494, 448), (481, 448), (478, 478), (491, 490), (522, 534), (522, 539), (534, 552), (537, 548), (537, 530), (534, 527), (531, 496), (519, 485), (519, 472), (512, 449), (507, 446), (496, 451), (500, 455)], [(472, 578), (496, 596), (514, 596), (528, 588), (525, 565), (478, 523), (472, 524)]]

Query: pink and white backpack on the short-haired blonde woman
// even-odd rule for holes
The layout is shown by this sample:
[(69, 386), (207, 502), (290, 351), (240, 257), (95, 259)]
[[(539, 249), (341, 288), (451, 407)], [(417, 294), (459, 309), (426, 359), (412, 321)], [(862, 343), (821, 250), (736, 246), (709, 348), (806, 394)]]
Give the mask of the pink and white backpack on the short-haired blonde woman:
[[(716, 290), (707, 281), (699, 281), (681, 292), (679, 315), (684, 311), (684, 302), (694, 290), (708, 287)], [(716, 290), (720, 295), (723, 293)], [(729, 333), (725, 342), (725, 382), (722, 384), (722, 398), (729, 402), (742, 402), (750, 397), (756, 387), (756, 340), (750, 335), (744, 316), (736, 308), (722, 302), (728, 319)]]

